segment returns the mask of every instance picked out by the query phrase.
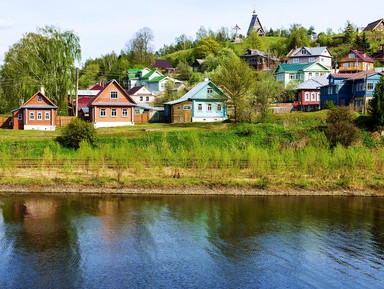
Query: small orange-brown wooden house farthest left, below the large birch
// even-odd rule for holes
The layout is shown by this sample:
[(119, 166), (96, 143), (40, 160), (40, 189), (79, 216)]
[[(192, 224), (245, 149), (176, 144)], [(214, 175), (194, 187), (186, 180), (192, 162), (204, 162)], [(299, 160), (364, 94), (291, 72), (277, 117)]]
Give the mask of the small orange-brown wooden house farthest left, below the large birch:
[(21, 107), (12, 110), (13, 129), (55, 130), (57, 106), (37, 92)]

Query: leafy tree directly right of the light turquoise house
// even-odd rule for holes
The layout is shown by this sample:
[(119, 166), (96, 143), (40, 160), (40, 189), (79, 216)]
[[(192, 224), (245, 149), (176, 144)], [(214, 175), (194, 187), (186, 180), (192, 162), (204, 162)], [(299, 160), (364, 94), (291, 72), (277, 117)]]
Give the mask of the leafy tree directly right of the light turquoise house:
[(235, 122), (247, 121), (255, 71), (239, 58), (227, 59), (212, 74), (212, 80), (231, 97), (229, 104), (233, 106)]

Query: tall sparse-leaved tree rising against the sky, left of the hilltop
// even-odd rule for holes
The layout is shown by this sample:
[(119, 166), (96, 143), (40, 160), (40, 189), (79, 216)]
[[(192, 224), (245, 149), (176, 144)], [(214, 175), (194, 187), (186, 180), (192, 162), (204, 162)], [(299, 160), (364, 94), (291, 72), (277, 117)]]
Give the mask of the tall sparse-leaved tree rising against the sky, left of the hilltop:
[(150, 66), (153, 59), (153, 32), (144, 27), (137, 31), (126, 44), (125, 52), (133, 64)]

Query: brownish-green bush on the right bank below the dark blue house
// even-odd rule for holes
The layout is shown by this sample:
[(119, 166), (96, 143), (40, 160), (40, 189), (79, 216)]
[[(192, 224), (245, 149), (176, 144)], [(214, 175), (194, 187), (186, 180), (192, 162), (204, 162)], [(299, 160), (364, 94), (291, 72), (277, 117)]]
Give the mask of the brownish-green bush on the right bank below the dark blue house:
[(353, 123), (355, 118), (354, 112), (346, 106), (339, 106), (328, 112), (328, 127), (324, 133), (331, 146), (340, 144), (348, 147), (359, 139), (359, 129)]

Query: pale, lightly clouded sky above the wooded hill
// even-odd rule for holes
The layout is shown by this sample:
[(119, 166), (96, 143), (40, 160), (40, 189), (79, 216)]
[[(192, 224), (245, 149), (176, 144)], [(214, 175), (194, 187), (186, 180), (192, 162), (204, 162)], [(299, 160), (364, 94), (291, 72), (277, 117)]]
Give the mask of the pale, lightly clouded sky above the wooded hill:
[(315, 31), (331, 28), (337, 33), (347, 21), (358, 27), (384, 17), (384, 1), (371, 0), (4, 0), (0, 4), (0, 65), (4, 53), (26, 33), (55, 26), (71, 30), (80, 38), (82, 63), (111, 52), (119, 53), (141, 28), (154, 34), (155, 50), (186, 34), (195, 39), (201, 26), (241, 28), (246, 34), (253, 10), (264, 28), (289, 29), (292, 24)]

